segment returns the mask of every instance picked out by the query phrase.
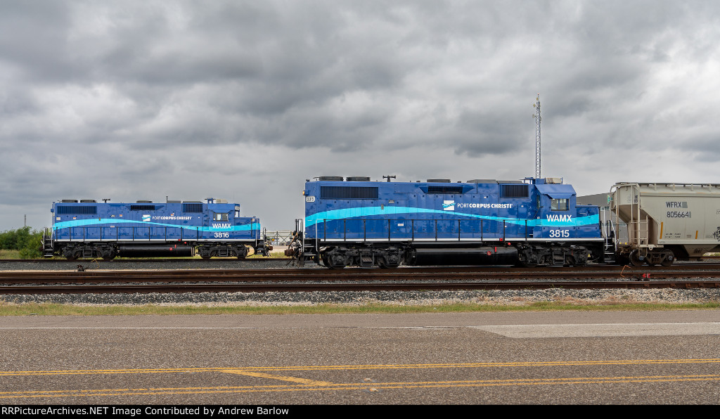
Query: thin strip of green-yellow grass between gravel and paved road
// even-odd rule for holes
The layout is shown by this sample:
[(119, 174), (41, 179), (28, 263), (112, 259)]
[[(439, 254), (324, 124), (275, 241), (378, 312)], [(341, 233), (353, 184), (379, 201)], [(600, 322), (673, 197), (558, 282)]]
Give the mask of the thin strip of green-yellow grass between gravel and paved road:
[[(10, 297), (12, 298), (12, 297)], [(600, 303), (580, 305), (567, 302), (536, 302), (529, 305), (297, 305), (297, 306), (218, 306), (205, 305), (140, 305), (140, 306), (87, 306), (62, 304), (16, 304), (0, 300), (0, 316), (12, 315), (296, 315), (296, 314), (402, 314), (422, 312), (505, 312), (505, 311), (652, 311), (652, 310), (716, 310), (718, 302), (702, 304), (667, 303)]]

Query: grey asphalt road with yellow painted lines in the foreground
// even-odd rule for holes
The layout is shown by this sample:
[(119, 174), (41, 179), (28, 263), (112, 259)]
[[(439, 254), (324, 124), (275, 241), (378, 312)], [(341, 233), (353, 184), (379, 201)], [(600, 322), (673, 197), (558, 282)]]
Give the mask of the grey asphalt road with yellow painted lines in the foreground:
[(720, 310), (0, 317), (0, 363), (0, 405), (716, 405)]

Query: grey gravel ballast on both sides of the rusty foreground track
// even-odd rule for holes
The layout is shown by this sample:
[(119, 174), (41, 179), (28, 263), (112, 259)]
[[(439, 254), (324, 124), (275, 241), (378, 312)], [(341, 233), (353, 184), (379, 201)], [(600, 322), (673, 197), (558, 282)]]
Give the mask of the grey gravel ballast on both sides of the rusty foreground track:
[[(183, 261), (173, 263), (127, 263), (68, 261), (63, 263), (0, 262), (0, 271), (74, 270), (78, 264), (90, 270), (155, 269), (283, 269), (285, 261)], [(720, 302), (720, 289), (541, 289), (413, 292), (199, 292), (179, 294), (46, 294), (5, 295), (4, 303), (58, 303), (71, 305), (196, 305), (196, 306), (291, 306), (291, 305), (531, 305), (564, 302), (572, 305), (623, 303), (693, 304)]]

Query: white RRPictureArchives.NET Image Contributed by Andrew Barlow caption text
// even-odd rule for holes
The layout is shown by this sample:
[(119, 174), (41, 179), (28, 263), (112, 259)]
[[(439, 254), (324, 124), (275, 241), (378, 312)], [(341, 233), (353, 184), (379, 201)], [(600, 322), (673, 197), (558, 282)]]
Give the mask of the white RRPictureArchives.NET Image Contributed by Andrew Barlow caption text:
[(274, 406), (2, 406), (0, 415), (288, 415), (289, 407)]

